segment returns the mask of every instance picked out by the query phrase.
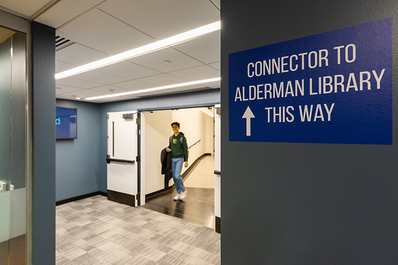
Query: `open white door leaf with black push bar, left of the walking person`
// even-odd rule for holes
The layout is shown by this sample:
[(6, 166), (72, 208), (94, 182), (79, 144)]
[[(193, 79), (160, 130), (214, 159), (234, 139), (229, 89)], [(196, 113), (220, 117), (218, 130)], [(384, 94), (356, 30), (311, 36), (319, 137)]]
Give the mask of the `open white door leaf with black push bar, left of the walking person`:
[(140, 199), (137, 112), (109, 112), (107, 118), (107, 197), (137, 207)]

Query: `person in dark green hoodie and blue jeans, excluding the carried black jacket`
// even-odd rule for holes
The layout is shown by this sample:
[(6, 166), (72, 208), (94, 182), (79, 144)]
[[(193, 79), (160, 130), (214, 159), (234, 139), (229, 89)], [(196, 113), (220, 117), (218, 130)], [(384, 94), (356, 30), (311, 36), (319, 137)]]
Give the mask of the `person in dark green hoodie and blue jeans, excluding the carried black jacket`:
[(182, 200), (187, 195), (187, 190), (184, 186), (181, 171), (184, 167), (188, 167), (188, 145), (187, 138), (184, 133), (180, 132), (180, 123), (173, 122), (171, 124), (174, 134), (169, 138), (169, 147), (167, 152), (171, 152), (171, 172), (176, 186), (177, 194), (175, 200)]

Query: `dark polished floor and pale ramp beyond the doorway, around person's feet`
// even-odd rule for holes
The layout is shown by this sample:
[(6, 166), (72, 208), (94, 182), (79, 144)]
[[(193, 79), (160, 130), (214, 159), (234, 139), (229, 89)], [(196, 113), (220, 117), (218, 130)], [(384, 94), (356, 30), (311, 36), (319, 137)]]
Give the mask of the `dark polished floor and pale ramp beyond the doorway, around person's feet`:
[(146, 198), (142, 207), (214, 229), (214, 156), (204, 157), (184, 185), (184, 200), (173, 200), (173, 188)]

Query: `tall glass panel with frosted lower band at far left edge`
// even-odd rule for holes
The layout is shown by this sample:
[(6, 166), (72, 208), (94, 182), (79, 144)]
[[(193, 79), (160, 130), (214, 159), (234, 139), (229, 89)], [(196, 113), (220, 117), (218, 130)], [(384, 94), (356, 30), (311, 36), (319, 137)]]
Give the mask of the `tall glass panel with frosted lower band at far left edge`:
[(26, 35), (0, 26), (0, 265), (26, 264)]

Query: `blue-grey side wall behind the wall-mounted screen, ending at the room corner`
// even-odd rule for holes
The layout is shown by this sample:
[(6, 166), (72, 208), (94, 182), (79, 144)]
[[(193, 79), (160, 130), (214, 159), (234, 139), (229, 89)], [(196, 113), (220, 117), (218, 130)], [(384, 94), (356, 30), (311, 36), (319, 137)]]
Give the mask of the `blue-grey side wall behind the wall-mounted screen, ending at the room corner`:
[(78, 129), (77, 139), (56, 140), (56, 201), (97, 192), (100, 104), (57, 99), (56, 105), (77, 109)]

